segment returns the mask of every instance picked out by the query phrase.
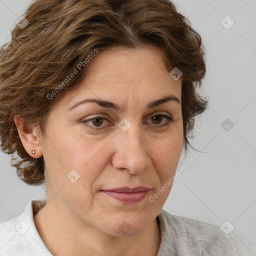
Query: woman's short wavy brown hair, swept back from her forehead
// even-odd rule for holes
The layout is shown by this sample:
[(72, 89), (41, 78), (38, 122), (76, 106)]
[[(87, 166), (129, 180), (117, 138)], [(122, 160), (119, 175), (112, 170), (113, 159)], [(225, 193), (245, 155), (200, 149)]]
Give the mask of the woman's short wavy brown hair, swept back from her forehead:
[(205, 74), (205, 50), (198, 32), (171, 1), (34, 0), (23, 16), (29, 23), (22, 29), (16, 25), (11, 40), (0, 47), (1, 150), (12, 154), (11, 165), (21, 180), (30, 185), (43, 183), (44, 160), (26, 152), (13, 117), (20, 116), (25, 126), (39, 125), (44, 135), (50, 110), (66, 92), (77, 88), (87, 66), (52, 99), (47, 95), (95, 49), (154, 45), (164, 53), (168, 70), (178, 67), (182, 71), (183, 146), (187, 151), (194, 117), (208, 104), (196, 92)]

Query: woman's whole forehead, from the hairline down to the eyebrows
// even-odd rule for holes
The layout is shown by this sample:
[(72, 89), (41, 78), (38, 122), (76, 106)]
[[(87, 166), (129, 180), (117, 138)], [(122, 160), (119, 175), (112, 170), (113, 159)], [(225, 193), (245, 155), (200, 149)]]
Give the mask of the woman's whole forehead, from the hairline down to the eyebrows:
[[(173, 80), (163, 61), (163, 52), (154, 46), (116, 47), (96, 54), (88, 63), (80, 86), (69, 94), (65, 103), (72, 104), (84, 96), (105, 99), (134, 97), (149, 100), (174, 94), (181, 95), (181, 79)], [(127, 98), (126, 98), (127, 99)]]

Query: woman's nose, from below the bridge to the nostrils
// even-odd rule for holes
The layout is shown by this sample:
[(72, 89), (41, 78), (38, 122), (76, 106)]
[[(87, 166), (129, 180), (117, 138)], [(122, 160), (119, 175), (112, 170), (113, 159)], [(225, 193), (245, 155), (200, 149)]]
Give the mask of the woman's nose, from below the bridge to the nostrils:
[[(150, 164), (150, 150), (141, 133), (135, 132), (132, 125), (128, 130), (119, 130), (115, 136), (115, 150), (112, 165), (115, 169), (138, 174)], [(145, 136), (144, 136), (145, 137)]]

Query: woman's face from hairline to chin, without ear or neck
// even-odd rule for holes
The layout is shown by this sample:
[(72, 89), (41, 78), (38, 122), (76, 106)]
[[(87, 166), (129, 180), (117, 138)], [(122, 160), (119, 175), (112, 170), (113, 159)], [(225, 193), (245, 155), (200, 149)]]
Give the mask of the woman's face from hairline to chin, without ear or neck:
[[(86, 225), (135, 235), (159, 214), (171, 189), (166, 184), (183, 145), (181, 79), (172, 79), (162, 52), (149, 46), (99, 52), (87, 65), (86, 78), (52, 109), (40, 137), (47, 197)], [(179, 102), (152, 103), (167, 96)], [(92, 98), (112, 103), (77, 104)], [(138, 193), (119, 200), (103, 191), (138, 186), (149, 189), (140, 200)]]

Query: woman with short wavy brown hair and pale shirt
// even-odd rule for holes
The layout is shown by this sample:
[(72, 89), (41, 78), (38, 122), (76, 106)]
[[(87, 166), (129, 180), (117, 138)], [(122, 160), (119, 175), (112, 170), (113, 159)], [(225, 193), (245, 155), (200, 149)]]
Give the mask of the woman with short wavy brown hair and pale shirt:
[(0, 224), (0, 255), (253, 255), (162, 209), (207, 107), (199, 34), (168, 0), (35, 0), (0, 51), (0, 135), (47, 198)]

